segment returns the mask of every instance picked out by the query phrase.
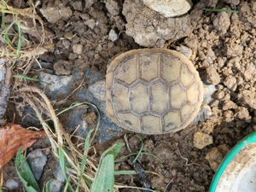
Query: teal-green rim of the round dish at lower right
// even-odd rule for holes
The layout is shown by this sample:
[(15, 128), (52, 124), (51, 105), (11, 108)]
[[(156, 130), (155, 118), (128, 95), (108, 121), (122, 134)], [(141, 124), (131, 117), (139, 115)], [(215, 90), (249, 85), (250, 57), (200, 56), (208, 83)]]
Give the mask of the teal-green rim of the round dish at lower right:
[(244, 137), (243, 139), (241, 139), (241, 141), (237, 143), (235, 147), (232, 148), (230, 152), (224, 157), (224, 160), (222, 160), (220, 166), (218, 166), (218, 171), (215, 173), (212, 179), (209, 192), (215, 192), (218, 186), (219, 178), (224, 173), (224, 170), (229, 165), (230, 161), (233, 160), (233, 158), (236, 156), (236, 154), (239, 151), (241, 151), (241, 148), (244, 148), (247, 144), (250, 144), (250, 143), (256, 143), (256, 131), (253, 131), (247, 137)]

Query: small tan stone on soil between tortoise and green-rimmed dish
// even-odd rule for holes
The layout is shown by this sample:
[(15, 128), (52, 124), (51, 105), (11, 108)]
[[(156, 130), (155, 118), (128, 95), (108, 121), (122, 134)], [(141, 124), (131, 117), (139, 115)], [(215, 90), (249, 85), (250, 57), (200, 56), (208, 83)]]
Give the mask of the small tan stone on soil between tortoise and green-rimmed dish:
[(194, 140), (193, 140), (193, 144), (195, 148), (205, 148), (207, 145), (210, 145), (213, 143), (213, 139), (212, 136), (203, 133), (201, 131), (197, 131), (194, 134)]

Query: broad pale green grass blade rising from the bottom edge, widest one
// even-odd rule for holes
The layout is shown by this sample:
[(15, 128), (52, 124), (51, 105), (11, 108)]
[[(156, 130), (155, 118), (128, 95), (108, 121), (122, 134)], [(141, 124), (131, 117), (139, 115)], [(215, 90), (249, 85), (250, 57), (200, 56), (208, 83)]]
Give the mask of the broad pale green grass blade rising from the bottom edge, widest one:
[(90, 192), (112, 192), (114, 183), (113, 154), (107, 154), (102, 158), (102, 162), (96, 172)]

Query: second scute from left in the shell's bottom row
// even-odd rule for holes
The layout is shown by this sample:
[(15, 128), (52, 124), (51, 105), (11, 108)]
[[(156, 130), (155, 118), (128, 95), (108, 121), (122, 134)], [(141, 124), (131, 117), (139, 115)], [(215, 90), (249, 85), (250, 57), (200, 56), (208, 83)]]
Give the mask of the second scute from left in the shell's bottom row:
[(161, 134), (162, 133), (161, 118), (152, 114), (147, 114), (142, 117), (142, 129), (143, 132), (148, 134)]

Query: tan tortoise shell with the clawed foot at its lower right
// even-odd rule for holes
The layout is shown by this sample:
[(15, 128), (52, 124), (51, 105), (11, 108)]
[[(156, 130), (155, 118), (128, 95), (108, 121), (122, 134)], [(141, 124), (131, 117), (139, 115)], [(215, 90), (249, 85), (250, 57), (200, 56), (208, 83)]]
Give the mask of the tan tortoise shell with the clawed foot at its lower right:
[(194, 65), (171, 49), (133, 49), (111, 61), (106, 113), (117, 125), (143, 134), (180, 131), (209, 118)]

